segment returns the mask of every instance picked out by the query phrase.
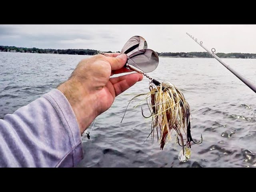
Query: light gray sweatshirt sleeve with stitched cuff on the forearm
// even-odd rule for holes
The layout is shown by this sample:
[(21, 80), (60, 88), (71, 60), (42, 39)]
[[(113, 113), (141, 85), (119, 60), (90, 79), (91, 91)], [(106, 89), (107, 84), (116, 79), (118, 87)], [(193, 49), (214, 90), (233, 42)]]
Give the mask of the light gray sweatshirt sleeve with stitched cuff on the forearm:
[(0, 167), (73, 167), (82, 158), (76, 116), (57, 89), (0, 119)]

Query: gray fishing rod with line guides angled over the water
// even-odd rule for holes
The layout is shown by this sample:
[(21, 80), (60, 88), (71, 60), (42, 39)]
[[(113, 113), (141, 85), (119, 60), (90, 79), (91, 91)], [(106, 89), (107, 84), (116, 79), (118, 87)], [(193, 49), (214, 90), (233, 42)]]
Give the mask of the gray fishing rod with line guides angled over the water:
[(242, 74), (238, 73), (236, 70), (234, 70), (233, 68), (231, 68), (228, 64), (226, 64), (224, 61), (222, 61), (218, 56), (216, 56), (216, 50), (215, 48), (212, 48), (212, 50), (208, 50), (207, 48), (205, 48), (203, 46), (203, 42), (200, 41), (198, 42), (198, 40), (195, 38), (194, 36), (192, 36), (191, 34), (187, 33), (186, 34), (192, 38), (196, 43), (198, 43), (202, 48), (204, 48), (212, 57), (216, 58), (216, 60), (218, 60), (222, 65), (224, 65), (230, 72), (232, 72), (232, 74), (234, 74), (237, 78), (239, 78), (244, 84), (246, 84), (251, 90), (253, 90), (256, 93), (256, 85), (253, 84), (252, 82), (250, 82), (246, 77), (244, 77)]

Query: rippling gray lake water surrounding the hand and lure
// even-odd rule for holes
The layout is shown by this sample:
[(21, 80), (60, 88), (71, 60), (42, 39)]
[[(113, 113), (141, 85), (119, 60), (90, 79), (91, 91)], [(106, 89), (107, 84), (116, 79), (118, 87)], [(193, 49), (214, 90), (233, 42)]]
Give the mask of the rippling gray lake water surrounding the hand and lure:
[[(0, 52), (0, 118), (56, 88), (82, 58), (90, 56)], [(256, 80), (256, 60), (223, 59)], [(254, 167), (256, 166), (256, 94), (214, 58), (160, 58), (151, 76), (178, 86), (190, 104), (192, 144), (188, 162), (181, 147), (169, 142), (160, 150), (151, 137), (146, 103), (128, 102), (148, 92), (144, 78), (119, 95), (112, 107), (83, 136), (84, 159), (78, 167)], [(146, 142), (144, 142), (146, 140)], [(254, 153), (255, 152), (255, 153)]]

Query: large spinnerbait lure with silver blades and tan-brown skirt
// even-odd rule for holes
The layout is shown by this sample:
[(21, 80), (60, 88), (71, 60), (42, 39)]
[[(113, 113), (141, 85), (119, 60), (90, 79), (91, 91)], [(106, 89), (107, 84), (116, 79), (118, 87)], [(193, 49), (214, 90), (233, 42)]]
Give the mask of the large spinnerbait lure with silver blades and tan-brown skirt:
[[(146, 95), (147, 104), (150, 103), (148, 104), (150, 116), (144, 116), (142, 109), (142, 116), (144, 118), (152, 118), (149, 136), (151, 135), (152, 140), (154, 140), (154, 132), (156, 132), (160, 149), (163, 150), (168, 141), (172, 140), (171, 135), (174, 133), (176, 141), (182, 146), (178, 158), (181, 162), (186, 162), (191, 155), (190, 142), (194, 142), (194, 140), (190, 132), (190, 107), (184, 94), (170, 82), (164, 81), (161, 83), (147, 74), (157, 68), (159, 57), (156, 52), (148, 49), (146, 40), (141, 36), (130, 38), (122, 48), (120, 54), (122, 53), (126, 54), (128, 58), (124, 67), (143, 74), (149, 79), (150, 92), (139, 94), (132, 98), (133, 100), (139, 96)], [(180, 137), (182, 144), (180, 144), (178, 137)], [(202, 143), (202, 134), (201, 141), (194, 143)]]

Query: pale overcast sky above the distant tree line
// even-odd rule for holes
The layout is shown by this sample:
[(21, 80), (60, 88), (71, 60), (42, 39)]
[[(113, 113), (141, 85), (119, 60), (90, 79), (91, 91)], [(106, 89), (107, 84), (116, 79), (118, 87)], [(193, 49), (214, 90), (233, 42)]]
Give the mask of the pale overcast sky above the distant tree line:
[(256, 53), (256, 25), (0, 25), (0, 45), (117, 52), (142, 36), (156, 52), (205, 52), (186, 32), (216, 53)]

